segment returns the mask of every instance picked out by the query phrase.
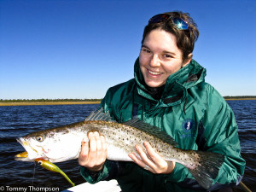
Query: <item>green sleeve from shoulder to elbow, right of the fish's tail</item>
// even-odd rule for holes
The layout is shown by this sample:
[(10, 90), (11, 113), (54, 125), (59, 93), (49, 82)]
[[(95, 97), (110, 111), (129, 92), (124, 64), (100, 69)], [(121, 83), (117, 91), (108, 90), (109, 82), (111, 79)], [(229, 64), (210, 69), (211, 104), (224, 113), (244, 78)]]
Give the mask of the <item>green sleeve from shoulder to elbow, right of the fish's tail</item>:
[(218, 176), (213, 180), (212, 189), (224, 185), (237, 185), (244, 174), (245, 160), (241, 157), (241, 147), (238, 137), (238, 126), (235, 115), (216, 90), (209, 94), (209, 107), (203, 119), (202, 148), (219, 154), (224, 154), (224, 163)]

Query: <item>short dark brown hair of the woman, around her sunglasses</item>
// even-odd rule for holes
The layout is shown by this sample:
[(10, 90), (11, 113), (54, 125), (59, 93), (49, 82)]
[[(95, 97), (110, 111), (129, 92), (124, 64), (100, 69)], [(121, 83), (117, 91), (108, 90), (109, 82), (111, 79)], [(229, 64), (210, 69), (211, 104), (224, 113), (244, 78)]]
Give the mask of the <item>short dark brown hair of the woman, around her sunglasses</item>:
[(177, 11), (166, 12), (165, 14), (171, 15), (173, 18), (178, 17), (183, 19), (189, 25), (189, 30), (177, 29), (177, 27), (173, 25), (172, 20), (165, 20), (159, 23), (148, 23), (148, 26), (145, 26), (144, 28), (142, 44), (145, 38), (148, 36), (149, 32), (155, 29), (171, 32), (177, 38), (177, 48), (180, 49), (183, 53), (183, 61), (188, 60), (189, 54), (194, 50), (195, 41), (199, 37), (197, 25), (188, 13)]

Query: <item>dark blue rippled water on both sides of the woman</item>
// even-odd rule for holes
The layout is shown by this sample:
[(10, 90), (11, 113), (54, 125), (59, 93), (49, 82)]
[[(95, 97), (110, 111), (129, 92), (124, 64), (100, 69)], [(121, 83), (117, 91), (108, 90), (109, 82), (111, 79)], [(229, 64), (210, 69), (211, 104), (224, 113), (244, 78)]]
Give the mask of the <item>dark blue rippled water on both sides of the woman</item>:
[[(256, 100), (229, 101), (239, 125), (242, 156), (247, 160), (243, 182), (256, 191)], [(0, 107), (0, 190), (10, 187), (70, 188), (59, 173), (49, 172), (33, 162), (15, 161), (24, 149), (16, 142), (29, 132), (82, 121), (98, 105), (17, 106)], [(73, 183), (84, 183), (77, 160), (56, 163)], [(10, 188), (9, 188), (10, 189)], [(240, 190), (238, 190), (240, 191)]]

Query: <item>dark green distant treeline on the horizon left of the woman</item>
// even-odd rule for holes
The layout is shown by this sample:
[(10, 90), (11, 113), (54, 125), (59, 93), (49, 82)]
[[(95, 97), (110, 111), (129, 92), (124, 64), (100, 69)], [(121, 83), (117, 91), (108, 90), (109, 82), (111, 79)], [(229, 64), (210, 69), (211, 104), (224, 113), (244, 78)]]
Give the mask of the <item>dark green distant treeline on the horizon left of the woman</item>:
[(0, 102), (101, 102), (102, 99), (0, 99)]

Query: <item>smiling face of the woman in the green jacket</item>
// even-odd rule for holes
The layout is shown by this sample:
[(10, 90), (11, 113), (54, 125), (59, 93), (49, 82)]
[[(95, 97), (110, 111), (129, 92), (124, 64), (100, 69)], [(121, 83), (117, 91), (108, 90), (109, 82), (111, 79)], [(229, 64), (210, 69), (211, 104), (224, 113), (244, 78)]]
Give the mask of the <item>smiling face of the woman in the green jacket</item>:
[(149, 87), (160, 87), (190, 60), (183, 62), (183, 53), (177, 48), (172, 33), (156, 29), (144, 39), (139, 61), (145, 83)]

